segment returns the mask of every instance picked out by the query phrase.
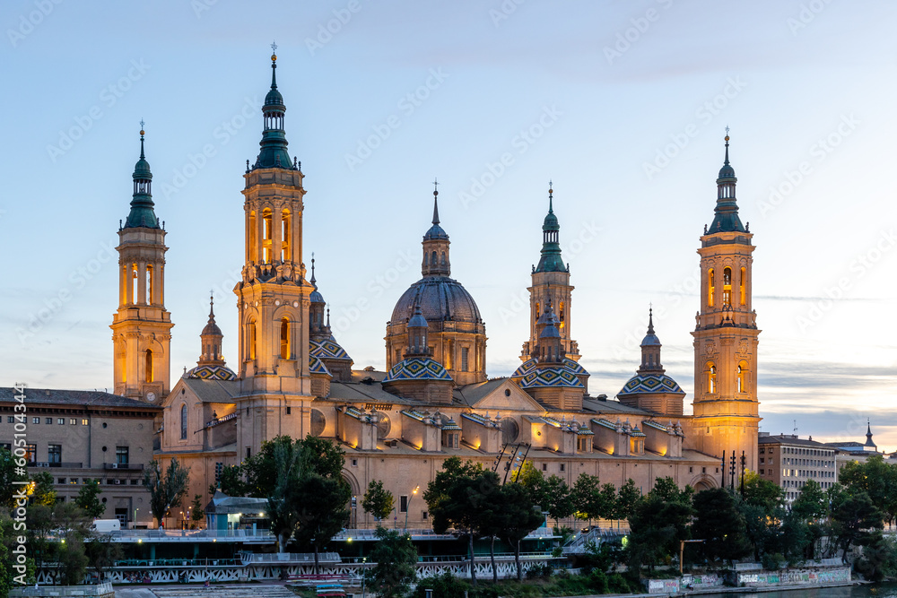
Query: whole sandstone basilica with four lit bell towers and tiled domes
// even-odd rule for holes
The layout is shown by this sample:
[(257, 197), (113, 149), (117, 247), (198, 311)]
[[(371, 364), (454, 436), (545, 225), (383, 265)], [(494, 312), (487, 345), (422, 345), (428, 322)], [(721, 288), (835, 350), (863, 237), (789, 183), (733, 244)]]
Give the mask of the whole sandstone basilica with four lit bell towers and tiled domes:
[[(429, 214), (421, 215), (421, 279), (396, 298), (386, 325), (387, 371), (357, 369), (352, 347), (331, 331), (314, 259), (307, 268), (303, 258), (304, 175), (287, 151), (276, 60), (271, 56), (259, 152), (247, 162), (242, 189), (245, 254), (233, 290), (239, 330), (228, 334), (239, 346), (236, 364), (222, 358), (225, 335), (210, 306), (196, 367), (172, 385), (166, 232), (154, 212), (144, 131), (131, 209), (118, 230), (114, 392), (160, 409), (152, 454), (190, 468), (189, 496), (207, 501), (223, 467), (280, 435), (334, 440), (344, 448), (343, 475), (358, 504), (370, 481), (382, 481), (414, 527), (429, 526), (426, 504), (411, 500), (415, 489), (453, 455), (505, 479), (527, 462), (570, 485), (586, 472), (618, 486), (631, 478), (643, 492), (667, 476), (698, 490), (719, 486), (721, 459), (733, 451), (754, 469), (760, 331), (752, 307), (753, 235), (738, 216), (728, 136), (713, 221), (698, 247), (691, 415), (662, 365), (650, 312), (631, 379), (618, 392), (589, 391), (573, 339), (573, 273), (563, 261), (552, 189), (528, 288), (529, 336), (510, 377), (487, 375), (483, 314), (452, 277), (450, 227), (440, 222), (436, 191), (429, 228)], [(353, 525), (373, 523), (353, 508)]]

